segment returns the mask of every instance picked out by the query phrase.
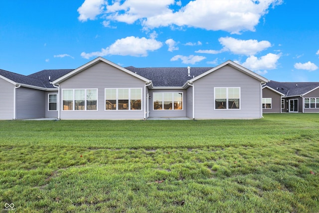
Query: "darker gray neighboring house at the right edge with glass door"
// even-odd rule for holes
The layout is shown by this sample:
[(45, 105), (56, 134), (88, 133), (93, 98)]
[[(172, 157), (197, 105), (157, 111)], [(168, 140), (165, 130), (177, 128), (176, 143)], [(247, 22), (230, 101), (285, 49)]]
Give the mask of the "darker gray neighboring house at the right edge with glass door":
[(269, 81), (263, 86), (263, 113), (319, 112), (319, 82)]

